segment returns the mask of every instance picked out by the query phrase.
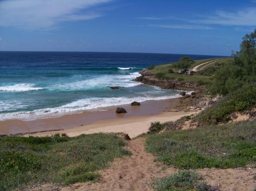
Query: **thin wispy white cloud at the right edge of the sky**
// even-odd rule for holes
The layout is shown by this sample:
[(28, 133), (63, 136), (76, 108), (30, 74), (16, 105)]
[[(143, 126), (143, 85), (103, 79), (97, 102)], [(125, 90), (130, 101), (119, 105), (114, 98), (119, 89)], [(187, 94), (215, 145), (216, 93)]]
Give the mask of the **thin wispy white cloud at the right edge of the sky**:
[(256, 26), (256, 8), (247, 8), (237, 12), (217, 11), (213, 16), (193, 22), (227, 26)]

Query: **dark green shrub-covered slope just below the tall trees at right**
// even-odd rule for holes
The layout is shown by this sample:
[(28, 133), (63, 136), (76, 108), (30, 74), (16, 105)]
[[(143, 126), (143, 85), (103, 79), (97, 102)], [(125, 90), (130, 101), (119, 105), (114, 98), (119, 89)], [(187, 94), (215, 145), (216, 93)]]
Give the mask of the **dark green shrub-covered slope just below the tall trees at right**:
[(230, 120), (233, 112), (242, 112), (256, 106), (256, 85), (244, 87), (223, 97), (211, 107), (200, 112), (193, 121), (200, 124), (217, 124)]

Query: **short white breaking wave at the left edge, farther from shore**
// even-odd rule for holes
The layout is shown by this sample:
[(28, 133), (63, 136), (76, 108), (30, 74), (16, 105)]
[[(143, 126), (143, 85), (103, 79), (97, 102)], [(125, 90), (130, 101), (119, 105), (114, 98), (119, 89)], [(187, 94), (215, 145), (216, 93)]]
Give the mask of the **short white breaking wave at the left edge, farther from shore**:
[(6, 86), (0, 86), (0, 91), (24, 92), (24, 91), (32, 91), (32, 90), (44, 89), (43, 87), (34, 87), (34, 86), (35, 86), (35, 84), (6, 85)]

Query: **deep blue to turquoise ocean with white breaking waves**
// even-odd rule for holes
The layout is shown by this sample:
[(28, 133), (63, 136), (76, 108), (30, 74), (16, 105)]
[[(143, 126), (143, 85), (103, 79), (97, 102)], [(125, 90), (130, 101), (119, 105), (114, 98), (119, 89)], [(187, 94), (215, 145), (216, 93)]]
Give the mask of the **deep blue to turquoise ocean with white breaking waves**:
[[(133, 82), (149, 65), (182, 54), (0, 52), (0, 120), (58, 117), (133, 101), (168, 99), (174, 90)], [(217, 56), (187, 55), (206, 59)], [(112, 90), (110, 86), (119, 86)]]

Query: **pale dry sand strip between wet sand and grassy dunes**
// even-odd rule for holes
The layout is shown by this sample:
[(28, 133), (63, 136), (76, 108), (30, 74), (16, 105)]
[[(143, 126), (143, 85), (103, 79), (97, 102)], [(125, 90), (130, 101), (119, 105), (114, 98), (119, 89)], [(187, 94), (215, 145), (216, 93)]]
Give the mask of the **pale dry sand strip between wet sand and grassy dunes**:
[(151, 122), (159, 121), (161, 123), (166, 121), (175, 121), (180, 117), (194, 114), (195, 112), (162, 112), (155, 116), (143, 116), (143, 117), (128, 117), (128, 118), (116, 118), (95, 121), (90, 125), (73, 127), (60, 131), (47, 131), (38, 132), (33, 134), (25, 134), (23, 136), (47, 136), (55, 133), (66, 133), (70, 137), (75, 137), (81, 134), (93, 134), (93, 133), (127, 133), (131, 138), (134, 138), (142, 133), (148, 132)]

